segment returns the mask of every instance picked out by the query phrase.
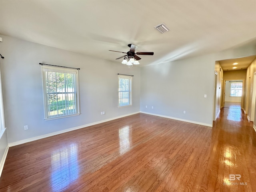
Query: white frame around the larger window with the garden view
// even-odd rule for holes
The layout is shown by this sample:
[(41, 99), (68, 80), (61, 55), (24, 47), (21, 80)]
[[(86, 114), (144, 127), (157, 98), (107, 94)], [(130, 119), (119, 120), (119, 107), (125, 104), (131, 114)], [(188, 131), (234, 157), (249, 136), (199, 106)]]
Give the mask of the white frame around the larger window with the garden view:
[[(48, 96), (46, 92), (46, 77), (45, 72), (48, 70), (49, 72), (63, 72), (63, 73), (72, 73), (75, 74), (75, 106), (76, 106), (76, 113), (74, 114), (67, 114), (67, 115), (59, 115), (50, 117), (48, 116)], [(78, 116), (80, 115), (80, 104), (79, 104), (79, 83), (78, 83), (78, 70), (77, 69), (70, 69), (70, 68), (62, 68), (62, 67), (52, 67), (52, 66), (42, 66), (42, 82), (43, 82), (43, 97), (44, 97), (44, 120), (54, 120), (54, 119), (60, 119), (60, 118), (67, 118), (71, 116)]]

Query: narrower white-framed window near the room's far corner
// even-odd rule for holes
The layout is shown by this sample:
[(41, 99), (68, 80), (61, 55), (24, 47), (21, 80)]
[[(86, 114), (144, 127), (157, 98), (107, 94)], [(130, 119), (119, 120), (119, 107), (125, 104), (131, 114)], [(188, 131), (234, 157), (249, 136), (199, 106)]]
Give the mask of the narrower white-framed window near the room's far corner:
[(118, 75), (118, 107), (132, 105), (132, 76)]

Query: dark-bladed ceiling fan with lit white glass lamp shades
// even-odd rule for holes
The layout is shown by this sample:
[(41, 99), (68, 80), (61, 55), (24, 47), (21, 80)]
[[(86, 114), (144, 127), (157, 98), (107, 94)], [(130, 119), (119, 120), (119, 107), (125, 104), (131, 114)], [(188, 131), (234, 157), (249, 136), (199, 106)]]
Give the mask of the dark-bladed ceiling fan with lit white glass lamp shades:
[[(124, 58), (124, 60), (122, 61), (122, 64), (138, 65), (140, 64), (138, 60), (140, 60), (141, 58), (137, 55), (154, 55), (154, 52), (136, 52), (135, 53), (135, 50), (138, 48), (138, 46), (134, 44), (128, 44), (128, 47), (130, 47), (130, 50), (128, 52), (114, 51), (114, 52), (120, 52), (120, 53), (126, 54), (124, 56), (116, 58), (116, 59)], [(113, 50), (109, 50), (109, 51), (113, 51)]]

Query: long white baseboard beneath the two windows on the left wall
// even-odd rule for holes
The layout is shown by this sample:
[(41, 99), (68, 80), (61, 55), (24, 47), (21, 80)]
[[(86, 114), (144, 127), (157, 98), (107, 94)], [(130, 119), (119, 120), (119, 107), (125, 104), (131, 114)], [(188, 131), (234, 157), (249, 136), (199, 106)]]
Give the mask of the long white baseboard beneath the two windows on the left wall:
[(24, 143), (27, 143), (27, 142), (43, 139), (43, 138), (46, 138), (46, 137), (50, 137), (50, 136), (54, 136), (54, 135), (58, 135), (58, 134), (62, 134), (62, 133), (70, 132), (70, 131), (74, 131), (74, 130), (77, 130), (77, 129), (85, 128), (85, 127), (88, 127), (88, 126), (92, 126), (92, 125), (108, 122), (108, 121), (111, 121), (111, 120), (119, 119), (119, 118), (122, 118), (122, 117), (126, 117), (126, 116), (130, 116), (130, 115), (133, 115), (133, 114), (137, 114), (137, 113), (139, 113), (139, 111), (138, 112), (134, 112), (134, 113), (130, 113), (130, 114), (126, 114), (126, 115), (122, 115), (122, 116), (117, 116), (117, 117), (114, 117), (114, 118), (109, 118), (109, 119), (105, 119), (105, 120), (101, 120), (101, 121), (97, 121), (97, 122), (81, 125), (81, 126), (77, 126), (77, 127), (73, 127), (73, 128), (69, 128), (69, 129), (65, 129), (65, 130), (61, 130), (61, 131), (57, 131), (57, 132), (53, 132), (53, 133), (49, 133), (49, 134), (45, 134), (45, 135), (41, 135), (41, 136), (37, 136), (37, 137), (33, 137), (33, 138), (28, 138), (28, 139), (20, 140), (20, 141), (17, 141), (17, 142), (9, 143), (8, 145), (9, 145), (9, 147), (12, 147), (12, 146), (24, 144)]

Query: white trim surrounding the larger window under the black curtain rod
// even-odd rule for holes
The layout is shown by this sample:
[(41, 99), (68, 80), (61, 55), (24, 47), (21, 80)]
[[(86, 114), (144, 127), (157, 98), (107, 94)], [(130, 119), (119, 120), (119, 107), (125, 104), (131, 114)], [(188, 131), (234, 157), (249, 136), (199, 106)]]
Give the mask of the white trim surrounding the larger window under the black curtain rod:
[[(67, 71), (67, 72), (73, 72), (75, 73), (75, 85), (76, 85), (76, 114), (68, 114), (68, 115), (62, 115), (57, 117), (48, 117), (48, 107), (47, 107), (47, 93), (46, 93), (46, 79), (44, 76), (44, 69), (50, 69), (50, 70), (60, 70), (60, 71)], [(68, 68), (61, 68), (61, 67), (52, 67), (52, 66), (42, 66), (42, 82), (43, 82), (43, 98), (44, 98), (44, 120), (54, 120), (54, 119), (61, 119), (61, 118), (67, 118), (72, 116), (78, 116), (80, 115), (80, 104), (79, 104), (79, 82), (78, 82), (78, 70), (76, 69), (68, 69)]]

